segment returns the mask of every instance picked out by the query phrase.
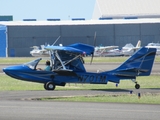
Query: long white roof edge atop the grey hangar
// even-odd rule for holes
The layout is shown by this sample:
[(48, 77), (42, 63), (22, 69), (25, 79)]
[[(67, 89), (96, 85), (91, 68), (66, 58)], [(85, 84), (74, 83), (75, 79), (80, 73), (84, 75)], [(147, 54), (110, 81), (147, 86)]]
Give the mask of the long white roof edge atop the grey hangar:
[(100, 25), (100, 24), (140, 24), (160, 23), (157, 19), (110, 19), (110, 20), (83, 20), (83, 21), (0, 21), (6, 26), (42, 26), (42, 25)]

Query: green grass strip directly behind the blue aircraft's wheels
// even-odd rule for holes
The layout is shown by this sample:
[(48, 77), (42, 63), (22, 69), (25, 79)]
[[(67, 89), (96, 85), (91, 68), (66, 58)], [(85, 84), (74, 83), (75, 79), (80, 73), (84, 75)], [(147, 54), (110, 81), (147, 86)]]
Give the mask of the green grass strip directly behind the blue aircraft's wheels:
[[(160, 88), (159, 76), (138, 77), (141, 88)], [(56, 87), (55, 90), (107, 90), (107, 89), (135, 89), (130, 80), (123, 80), (116, 88), (115, 83), (108, 84), (66, 84), (65, 87)], [(4, 90), (44, 90), (43, 84), (26, 82), (11, 78), (5, 74), (0, 75), (0, 91)]]

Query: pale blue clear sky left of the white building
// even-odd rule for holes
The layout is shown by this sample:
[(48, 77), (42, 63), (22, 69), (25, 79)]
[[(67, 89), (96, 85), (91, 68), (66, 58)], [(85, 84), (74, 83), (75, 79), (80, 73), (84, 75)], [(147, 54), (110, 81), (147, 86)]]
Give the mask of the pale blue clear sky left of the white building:
[(96, 0), (0, 0), (0, 16), (13, 15), (14, 21), (58, 18), (92, 19)]

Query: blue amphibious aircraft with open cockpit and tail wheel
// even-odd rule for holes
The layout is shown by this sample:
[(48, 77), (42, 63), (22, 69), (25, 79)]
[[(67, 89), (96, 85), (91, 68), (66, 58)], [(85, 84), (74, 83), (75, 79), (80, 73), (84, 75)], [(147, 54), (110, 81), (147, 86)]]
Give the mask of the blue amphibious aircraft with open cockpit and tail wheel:
[(119, 83), (120, 80), (132, 80), (135, 88), (139, 89), (136, 77), (150, 75), (156, 54), (155, 48), (143, 47), (116, 69), (93, 73), (86, 71), (83, 60), (83, 56), (91, 55), (92, 62), (93, 46), (76, 43), (69, 46), (47, 46), (45, 49), (50, 51), (51, 71), (36, 69), (41, 58), (4, 68), (3, 71), (19, 80), (43, 83), (46, 90), (54, 90), (56, 86), (65, 86), (66, 83), (107, 84)]

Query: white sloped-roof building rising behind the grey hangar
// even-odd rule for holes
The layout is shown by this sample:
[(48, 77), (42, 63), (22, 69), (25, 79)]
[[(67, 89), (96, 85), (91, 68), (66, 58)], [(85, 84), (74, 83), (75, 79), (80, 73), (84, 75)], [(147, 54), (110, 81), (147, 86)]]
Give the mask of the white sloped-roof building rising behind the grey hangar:
[(93, 19), (160, 18), (160, 0), (96, 0)]

